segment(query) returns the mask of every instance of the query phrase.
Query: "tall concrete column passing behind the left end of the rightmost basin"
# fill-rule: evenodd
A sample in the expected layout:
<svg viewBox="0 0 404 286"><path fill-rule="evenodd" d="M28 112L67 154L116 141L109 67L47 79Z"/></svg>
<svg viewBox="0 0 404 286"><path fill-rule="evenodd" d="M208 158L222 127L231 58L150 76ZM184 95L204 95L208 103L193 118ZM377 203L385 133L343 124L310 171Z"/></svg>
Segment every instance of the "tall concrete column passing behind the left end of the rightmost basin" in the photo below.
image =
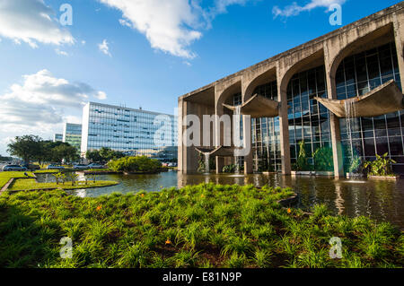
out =
<svg viewBox="0 0 404 286"><path fill-rule="evenodd" d="M331 72L332 62L329 60L329 48L327 42L324 42L324 64L327 80L327 94L329 99L337 100L337 88L335 78ZM335 178L343 178L344 160L342 157L341 133L339 129L339 119L332 112L329 112L329 124L331 133L332 157L334 161L334 176Z"/></svg>

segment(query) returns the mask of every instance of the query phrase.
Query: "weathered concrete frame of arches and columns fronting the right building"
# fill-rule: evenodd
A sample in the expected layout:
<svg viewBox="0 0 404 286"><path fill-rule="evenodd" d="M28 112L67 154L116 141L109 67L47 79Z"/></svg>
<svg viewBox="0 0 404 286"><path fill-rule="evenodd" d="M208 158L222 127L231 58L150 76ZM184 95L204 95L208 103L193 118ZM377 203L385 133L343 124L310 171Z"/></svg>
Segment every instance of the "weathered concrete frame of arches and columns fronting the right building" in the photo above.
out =
<svg viewBox="0 0 404 286"><path fill-rule="evenodd" d="M318 39L293 48L285 53L274 56L257 65L229 75L207 85L198 91L190 92L180 97L180 114L224 114L222 104L236 92L242 92L243 102L250 99L252 92L260 84L277 80L278 95L280 97L280 131L281 131L281 155L282 172L289 175L291 172L289 130L287 118L286 89L294 74L311 69L312 67L325 65L327 76L327 88L330 99L337 98L335 74L342 60L361 49L380 46L383 41L394 40L396 42L400 74L404 74L403 48L404 48L404 3L393 5L379 13L375 13L362 20L349 24L338 30L330 32ZM404 76L401 76L404 86ZM215 88L215 108L198 108L200 103L192 104L192 100L200 101L200 94L206 90ZM196 113L195 113L196 112ZM180 120L179 120L180 122ZM244 124L249 122L244 120ZM338 118L330 116L331 143L333 149L334 173L336 177L342 177L343 162L339 133ZM245 130L245 128L244 128ZM183 134L185 126L180 124L179 134ZM216 125L215 131L219 146L223 143L223 130ZM245 137L245 136L244 136ZM180 136L179 136L180 138ZM179 141L179 169L183 172L196 170L196 154L192 147L181 147ZM245 171L252 172L252 153L245 157ZM224 160L219 159L216 163L220 166ZM220 170L220 168L218 168Z"/></svg>

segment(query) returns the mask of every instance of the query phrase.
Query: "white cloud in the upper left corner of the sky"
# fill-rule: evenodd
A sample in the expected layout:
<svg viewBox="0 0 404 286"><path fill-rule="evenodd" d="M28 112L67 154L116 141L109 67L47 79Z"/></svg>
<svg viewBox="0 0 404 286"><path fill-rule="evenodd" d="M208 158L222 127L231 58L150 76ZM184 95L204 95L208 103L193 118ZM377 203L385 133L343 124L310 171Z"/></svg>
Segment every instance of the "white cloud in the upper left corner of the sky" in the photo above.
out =
<svg viewBox="0 0 404 286"><path fill-rule="evenodd" d="M0 36L31 48L37 48L38 42L57 46L75 43L43 0L0 0Z"/></svg>

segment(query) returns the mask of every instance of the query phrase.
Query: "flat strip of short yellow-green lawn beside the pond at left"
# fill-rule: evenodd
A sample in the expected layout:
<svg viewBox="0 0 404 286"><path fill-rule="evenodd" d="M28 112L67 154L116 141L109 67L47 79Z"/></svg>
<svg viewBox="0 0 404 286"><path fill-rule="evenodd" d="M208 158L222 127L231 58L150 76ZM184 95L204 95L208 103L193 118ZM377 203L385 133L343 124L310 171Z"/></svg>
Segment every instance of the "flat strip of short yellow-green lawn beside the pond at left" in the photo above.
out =
<svg viewBox="0 0 404 286"><path fill-rule="evenodd" d="M78 184L77 184L78 183ZM13 182L12 186L9 186L10 191L26 191L26 190L38 190L38 189L48 189L48 188L62 188L62 189L77 189L77 188L90 188L90 187L101 187L101 186L113 186L117 185L114 181L88 181L87 185L84 182L77 182L75 186L72 186L71 182L66 182L65 185L59 183L37 183L35 179L31 178L20 178Z"/></svg>

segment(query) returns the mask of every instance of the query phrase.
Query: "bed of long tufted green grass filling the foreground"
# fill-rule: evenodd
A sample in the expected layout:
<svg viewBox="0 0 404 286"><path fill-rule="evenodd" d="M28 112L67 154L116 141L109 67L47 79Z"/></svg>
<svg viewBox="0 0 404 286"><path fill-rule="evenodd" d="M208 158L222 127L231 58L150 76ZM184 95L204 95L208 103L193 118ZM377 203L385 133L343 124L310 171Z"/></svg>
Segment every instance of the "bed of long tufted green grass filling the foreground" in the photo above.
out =
<svg viewBox="0 0 404 286"><path fill-rule="evenodd" d="M403 232L277 203L290 189L214 184L97 198L0 196L0 267L402 267ZM73 240L62 259L61 238ZM342 240L342 259L329 239Z"/></svg>

